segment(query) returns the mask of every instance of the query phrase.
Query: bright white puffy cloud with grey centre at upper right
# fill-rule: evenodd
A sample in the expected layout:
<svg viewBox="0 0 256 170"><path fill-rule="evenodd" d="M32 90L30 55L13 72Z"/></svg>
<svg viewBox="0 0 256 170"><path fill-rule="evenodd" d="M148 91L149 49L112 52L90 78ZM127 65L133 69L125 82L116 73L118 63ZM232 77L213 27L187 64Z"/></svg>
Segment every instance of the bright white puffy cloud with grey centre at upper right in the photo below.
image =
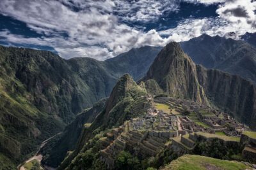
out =
<svg viewBox="0 0 256 170"><path fill-rule="evenodd" d="M189 1L189 0L188 0ZM193 0L191 0L192 2ZM204 3L204 1L196 1ZM208 1L208 3L217 1ZM218 18L188 18L173 28L159 32L174 41L187 41L201 34L239 39L246 32L256 31L256 2L251 0L228 0L218 6Z"/></svg>

